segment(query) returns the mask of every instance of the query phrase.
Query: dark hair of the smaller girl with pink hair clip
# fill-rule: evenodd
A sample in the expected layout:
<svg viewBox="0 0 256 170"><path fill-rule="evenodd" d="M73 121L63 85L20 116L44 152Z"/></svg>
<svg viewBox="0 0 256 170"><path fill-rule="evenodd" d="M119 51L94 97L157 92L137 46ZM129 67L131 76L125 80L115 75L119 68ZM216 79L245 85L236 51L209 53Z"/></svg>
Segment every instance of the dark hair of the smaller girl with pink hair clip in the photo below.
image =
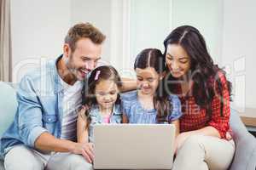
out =
<svg viewBox="0 0 256 170"><path fill-rule="evenodd" d="M119 73L113 68L113 66L103 65L91 71L90 77L85 78L82 89L82 105L86 105L88 108L82 116L85 116L87 119L87 127L90 124L90 109L93 105L97 104L95 95L96 85L102 80L112 80L114 83L116 83L119 89L122 87ZM115 104L120 104L119 94Z"/></svg>

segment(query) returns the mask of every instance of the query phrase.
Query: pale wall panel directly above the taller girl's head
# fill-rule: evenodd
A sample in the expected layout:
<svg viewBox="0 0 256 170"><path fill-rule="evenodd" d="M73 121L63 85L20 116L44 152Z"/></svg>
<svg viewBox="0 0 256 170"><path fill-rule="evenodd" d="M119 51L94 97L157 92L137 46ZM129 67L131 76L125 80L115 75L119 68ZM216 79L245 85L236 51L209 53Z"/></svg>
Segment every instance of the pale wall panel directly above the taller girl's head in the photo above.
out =
<svg viewBox="0 0 256 170"><path fill-rule="evenodd" d="M131 0L131 64L144 48L164 52L164 39L172 29L172 0Z"/></svg>

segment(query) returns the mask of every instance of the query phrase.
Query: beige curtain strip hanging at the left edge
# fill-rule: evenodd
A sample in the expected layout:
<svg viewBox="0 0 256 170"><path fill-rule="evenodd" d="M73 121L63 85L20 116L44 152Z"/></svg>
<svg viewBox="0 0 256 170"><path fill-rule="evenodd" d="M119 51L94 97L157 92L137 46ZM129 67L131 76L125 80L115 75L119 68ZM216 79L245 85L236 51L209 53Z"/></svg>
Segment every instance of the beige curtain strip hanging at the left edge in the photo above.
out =
<svg viewBox="0 0 256 170"><path fill-rule="evenodd" d="M0 0L0 81L11 82L10 0Z"/></svg>

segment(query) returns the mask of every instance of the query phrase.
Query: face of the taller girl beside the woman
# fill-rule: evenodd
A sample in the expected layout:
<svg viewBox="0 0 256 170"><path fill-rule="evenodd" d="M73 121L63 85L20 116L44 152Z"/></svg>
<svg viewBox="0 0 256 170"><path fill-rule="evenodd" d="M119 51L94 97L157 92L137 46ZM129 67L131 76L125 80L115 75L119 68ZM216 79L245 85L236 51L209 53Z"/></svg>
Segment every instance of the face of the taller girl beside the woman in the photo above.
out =
<svg viewBox="0 0 256 170"><path fill-rule="evenodd" d="M153 95L158 88L160 75L153 67L146 69L136 68L137 88L142 94Z"/></svg>

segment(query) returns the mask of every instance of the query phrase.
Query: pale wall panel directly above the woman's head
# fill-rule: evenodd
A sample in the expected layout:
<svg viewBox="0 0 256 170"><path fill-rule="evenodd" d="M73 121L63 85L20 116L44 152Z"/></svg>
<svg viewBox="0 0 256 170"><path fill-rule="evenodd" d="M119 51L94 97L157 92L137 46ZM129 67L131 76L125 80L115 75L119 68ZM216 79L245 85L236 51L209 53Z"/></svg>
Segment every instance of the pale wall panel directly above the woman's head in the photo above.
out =
<svg viewBox="0 0 256 170"><path fill-rule="evenodd" d="M220 64L223 31L223 0L173 0L172 28L195 26L205 37L214 62Z"/></svg>

